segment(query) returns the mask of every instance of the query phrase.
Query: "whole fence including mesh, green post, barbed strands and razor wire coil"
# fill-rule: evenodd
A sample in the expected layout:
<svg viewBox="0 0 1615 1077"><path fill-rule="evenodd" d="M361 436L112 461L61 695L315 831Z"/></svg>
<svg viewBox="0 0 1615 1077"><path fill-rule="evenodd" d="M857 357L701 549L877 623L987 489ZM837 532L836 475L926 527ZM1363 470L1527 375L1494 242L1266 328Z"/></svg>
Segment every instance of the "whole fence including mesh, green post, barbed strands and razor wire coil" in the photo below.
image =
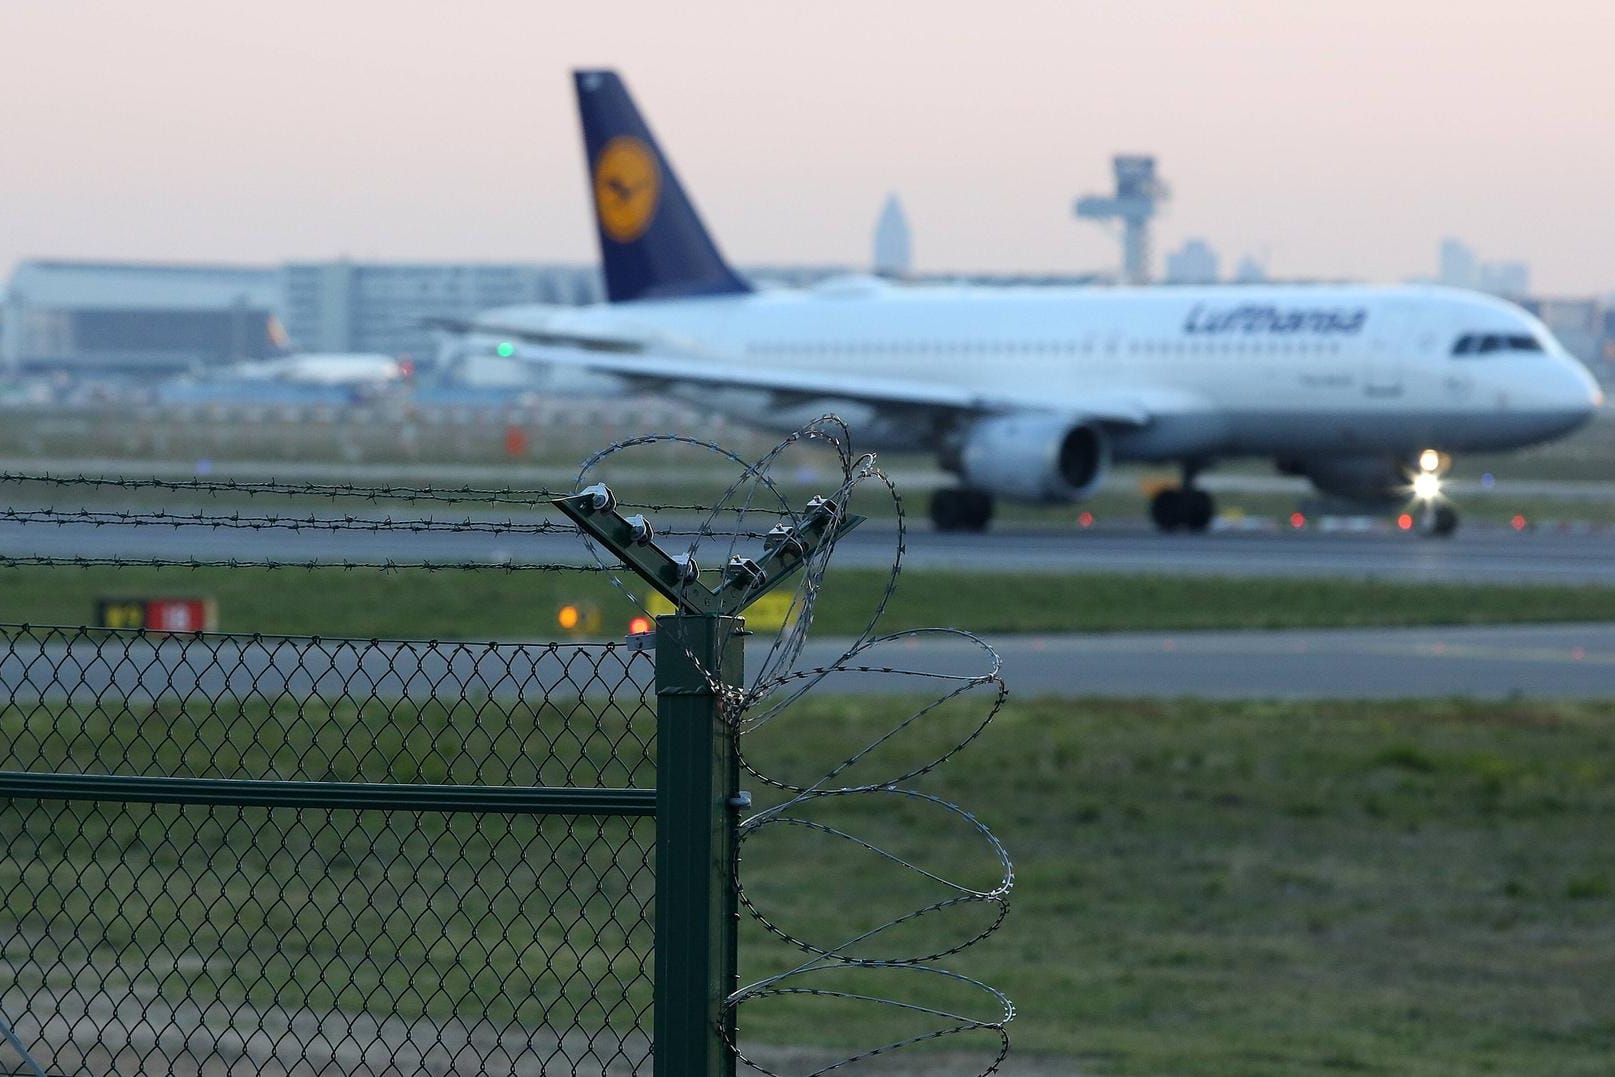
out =
<svg viewBox="0 0 1615 1077"><path fill-rule="evenodd" d="M0 1077L724 1077L849 1038L812 1072L900 1072L904 1054L921 1069L903 1072L935 1072L938 1050L996 1071L1013 1004L938 962L998 927L1013 867L971 812L909 783L985 730L1003 681L969 633L879 630L901 499L849 444L828 417L756 462L635 438L567 496L0 475L0 568L23 576L588 573L644 623L652 594L678 610L633 638L651 649L194 631L205 599L174 599L203 612L170 635L126 628L176 628L124 618L136 599L105 599L103 628L0 625ZM680 452L733 480L711 499L664 489ZM596 468L654 489L619 497ZM840 478L793 499L775 471ZM891 568L864 630L809 662L861 483L895 513ZM738 615L782 585L783 625L748 646ZM916 668L908 644L938 633L967 657ZM914 691L879 728L843 741L795 710L869 677ZM801 751L743 748L764 730ZM869 827L893 804L938 815L935 857ZM837 848L798 856L801 835ZM743 840L764 872L796 859L814 893L848 870L869 890L867 854L880 899L803 930L743 870ZM748 983L743 916L762 928ZM804 1001L864 1016L830 1029L804 1008L743 1043L751 1017Z"/></svg>

